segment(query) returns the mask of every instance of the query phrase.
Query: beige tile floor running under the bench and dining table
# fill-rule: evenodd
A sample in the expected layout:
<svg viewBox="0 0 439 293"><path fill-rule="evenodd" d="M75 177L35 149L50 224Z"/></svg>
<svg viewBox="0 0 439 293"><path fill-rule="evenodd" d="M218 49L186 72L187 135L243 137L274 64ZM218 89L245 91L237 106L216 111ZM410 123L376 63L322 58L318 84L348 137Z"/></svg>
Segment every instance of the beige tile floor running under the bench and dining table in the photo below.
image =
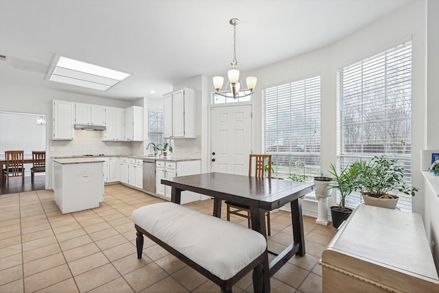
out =
<svg viewBox="0 0 439 293"><path fill-rule="evenodd" d="M162 201L109 185L99 208L62 215L49 190L1 195L0 292L219 292L217 285L146 237L143 258L137 259L131 213ZM187 206L212 213L213 200ZM232 220L246 226L244 218ZM272 292L322 291L318 260L335 231L315 220L304 217L307 255L293 257L274 274ZM270 250L282 250L291 239L290 214L272 213ZM233 292L252 289L248 274Z"/></svg>

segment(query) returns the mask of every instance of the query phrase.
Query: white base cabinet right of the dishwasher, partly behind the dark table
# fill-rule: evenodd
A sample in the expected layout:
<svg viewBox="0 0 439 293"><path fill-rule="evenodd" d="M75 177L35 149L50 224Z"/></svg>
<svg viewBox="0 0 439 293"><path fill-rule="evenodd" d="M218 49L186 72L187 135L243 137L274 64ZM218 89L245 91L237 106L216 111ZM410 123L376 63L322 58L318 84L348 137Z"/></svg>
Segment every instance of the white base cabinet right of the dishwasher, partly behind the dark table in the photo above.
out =
<svg viewBox="0 0 439 293"><path fill-rule="evenodd" d="M171 200L171 187L161 184L163 178L172 178L176 176L186 176L193 174L200 174L201 163L200 160L193 161L156 161L156 194ZM191 191L182 191L181 203L193 202L200 200L200 194L195 194Z"/></svg>

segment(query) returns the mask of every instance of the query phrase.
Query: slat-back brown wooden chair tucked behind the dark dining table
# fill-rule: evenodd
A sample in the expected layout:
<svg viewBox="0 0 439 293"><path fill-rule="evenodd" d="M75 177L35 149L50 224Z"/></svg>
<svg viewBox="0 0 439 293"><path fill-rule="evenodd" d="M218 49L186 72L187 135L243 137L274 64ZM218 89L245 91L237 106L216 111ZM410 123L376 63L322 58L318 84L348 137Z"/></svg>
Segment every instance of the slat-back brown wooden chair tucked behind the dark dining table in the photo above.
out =
<svg viewBox="0 0 439 293"><path fill-rule="evenodd" d="M268 178L272 178L272 155L271 154L250 154L250 161L248 163L248 176L252 176L252 161L253 158L256 160L254 165L254 176L263 178L265 174L265 159L268 159ZM227 220L230 221L230 214L237 215L242 218L246 218L248 222L248 228L251 228L252 221L250 215L250 207L242 204L236 204L235 202L226 201L227 205ZM270 211L265 213L267 215L267 234L271 236L271 225L270 225Z"/></svg>

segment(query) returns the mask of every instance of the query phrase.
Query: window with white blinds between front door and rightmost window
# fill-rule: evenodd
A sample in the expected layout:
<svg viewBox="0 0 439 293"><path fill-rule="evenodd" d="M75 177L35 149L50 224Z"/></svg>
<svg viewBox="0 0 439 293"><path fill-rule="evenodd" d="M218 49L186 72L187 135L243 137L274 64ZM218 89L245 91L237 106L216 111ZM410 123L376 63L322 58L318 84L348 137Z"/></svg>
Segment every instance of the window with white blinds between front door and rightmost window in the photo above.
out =
<svg viewBox="0 0 439 293"><path fill-rule="evenodd" d="M320 175L320 76L262 91L263 152L274 177Z"/></svg>

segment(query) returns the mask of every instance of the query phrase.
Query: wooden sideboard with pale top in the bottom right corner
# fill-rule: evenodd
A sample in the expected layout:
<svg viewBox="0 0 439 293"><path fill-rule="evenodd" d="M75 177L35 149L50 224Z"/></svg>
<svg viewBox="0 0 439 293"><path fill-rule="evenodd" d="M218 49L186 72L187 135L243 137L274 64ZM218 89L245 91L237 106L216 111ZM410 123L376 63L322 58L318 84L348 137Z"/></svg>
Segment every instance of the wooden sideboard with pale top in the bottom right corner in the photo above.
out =
<svg viewBox="0 0 439 293"><path fill-rule="evenodd" d="M421 216L361 205L320 259L323 292L439 292Z"/></svg>

